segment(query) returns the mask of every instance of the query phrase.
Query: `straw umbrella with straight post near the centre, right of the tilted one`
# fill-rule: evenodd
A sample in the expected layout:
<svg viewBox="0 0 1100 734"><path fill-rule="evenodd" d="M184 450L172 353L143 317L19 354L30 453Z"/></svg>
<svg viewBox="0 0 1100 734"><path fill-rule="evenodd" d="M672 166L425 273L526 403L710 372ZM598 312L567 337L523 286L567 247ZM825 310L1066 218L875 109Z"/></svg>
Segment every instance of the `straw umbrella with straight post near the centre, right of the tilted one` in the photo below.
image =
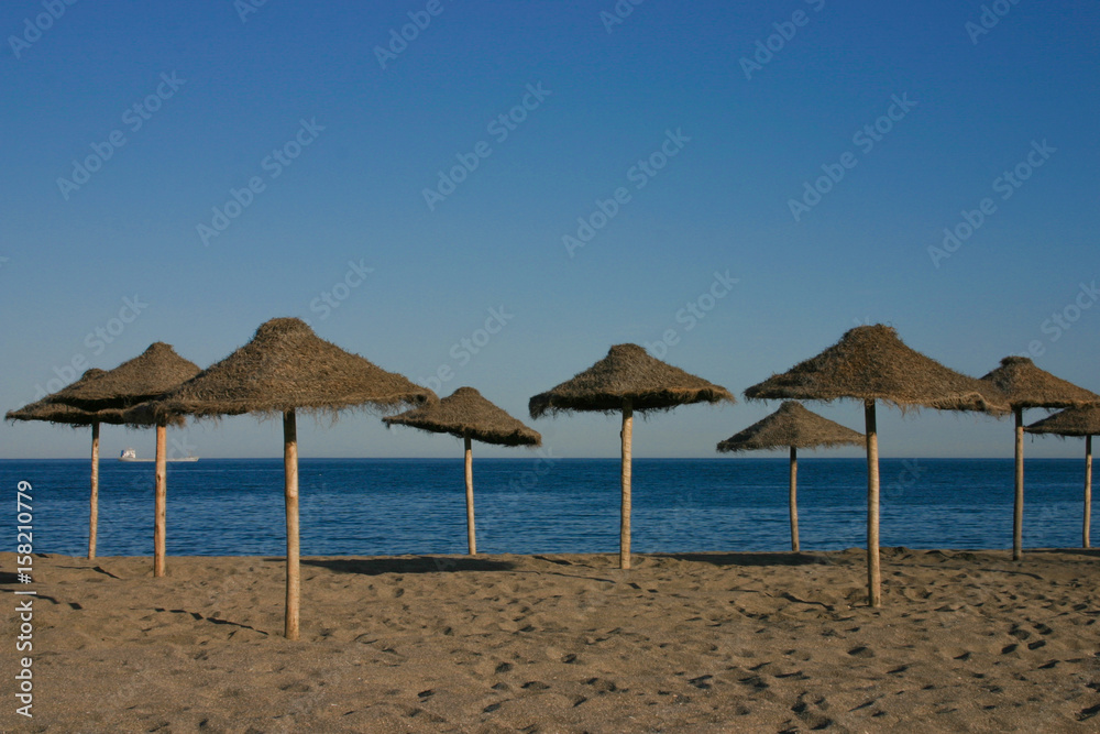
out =
<svg viewBox="0 0 1100 734"><path fill-rule="evenodd" d="M616 344L607 357L530 399L532 418L547 413L595 410L623 414L619 568L630 568L630 441L634 412L669 410L691 403L736 402L728 390L646 353L637 344Z"/></svg>

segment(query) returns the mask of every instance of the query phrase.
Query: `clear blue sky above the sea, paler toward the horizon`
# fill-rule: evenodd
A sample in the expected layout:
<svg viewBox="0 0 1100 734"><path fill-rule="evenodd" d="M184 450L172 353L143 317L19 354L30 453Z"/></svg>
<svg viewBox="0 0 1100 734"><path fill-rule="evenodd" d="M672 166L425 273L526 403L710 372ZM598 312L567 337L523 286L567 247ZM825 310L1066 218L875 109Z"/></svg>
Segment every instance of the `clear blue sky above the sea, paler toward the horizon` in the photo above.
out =
<svg viewBox="0 0 1100 734"><path fill-rule="evenodd" d="M437 392L477 387L556 457L616 456L617 421L527 399L670 329L667 361L738 395L866 321L974 375L1031 349L1100 390L1100 6L982 4L4 2L0 404L157 340L206 366L275 316L417 381L449 365ZM945 228L968 237L930 251ZM657 415L636 454L715 456L776 407ZM1008 421L880 416L884 456L1011 456ZM460 446L299 423L306 457ZM248 416L186 440L282 449ZM105 428L130 445L152 454ZM87 449L0 427L3 458Z"/></svg>

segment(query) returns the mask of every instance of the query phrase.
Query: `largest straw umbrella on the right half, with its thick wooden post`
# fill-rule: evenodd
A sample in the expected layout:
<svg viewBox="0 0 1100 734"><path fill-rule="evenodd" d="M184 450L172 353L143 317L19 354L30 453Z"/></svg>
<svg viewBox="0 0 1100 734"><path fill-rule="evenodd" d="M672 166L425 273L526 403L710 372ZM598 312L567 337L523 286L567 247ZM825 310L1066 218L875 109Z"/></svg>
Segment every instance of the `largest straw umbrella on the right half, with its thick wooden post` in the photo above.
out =
<svg viewBox="0 0 1100 734"><path fill-rule="evenodd" d="M887 326L848 330L821 354L745 391L749 399L862 401L867 441L867 595L882 605L879 569L879 440L875 404L901 409L1004 412L996 388L916 352Z"/></svg>

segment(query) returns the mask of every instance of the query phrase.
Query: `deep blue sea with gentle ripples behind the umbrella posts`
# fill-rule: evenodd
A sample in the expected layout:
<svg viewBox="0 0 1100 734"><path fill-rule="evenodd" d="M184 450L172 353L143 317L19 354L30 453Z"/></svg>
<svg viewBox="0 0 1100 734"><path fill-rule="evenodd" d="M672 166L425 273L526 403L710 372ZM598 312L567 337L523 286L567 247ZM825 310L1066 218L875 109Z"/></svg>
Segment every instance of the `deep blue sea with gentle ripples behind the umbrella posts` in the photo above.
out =
<svg viewBox="0 0 1100 734"><path fill-rule="evenodd" d="M618 472L617 459L475 458L477 550L616 551ZM1011 547L1011 459L883 459L880 475L883 546ZM35 551L85 555L88 478L87 460L0 461L4 549L26 481ZM461 459L302 459L299 486L302 555L466 550ZM785 457L639 459L632 487L637 552L790 549ZM1082 487L1084 459L1027 461L1025 547L1080 546ZM800 458L802 549L862 546L866 496L862 459ZM98 555L152 555L153 464L101 461L99 497ZM169 464L167 497L169 555L285 552L282 460Z"/></svg>

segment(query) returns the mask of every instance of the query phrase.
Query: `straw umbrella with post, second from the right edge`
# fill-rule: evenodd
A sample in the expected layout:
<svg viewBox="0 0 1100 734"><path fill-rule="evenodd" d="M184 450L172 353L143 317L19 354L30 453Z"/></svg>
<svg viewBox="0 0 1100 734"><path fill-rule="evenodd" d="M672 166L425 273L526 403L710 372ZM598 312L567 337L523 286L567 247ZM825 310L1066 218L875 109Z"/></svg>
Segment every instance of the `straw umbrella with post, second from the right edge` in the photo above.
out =
<svg viewBox="0 0 1100 734"><path fill-rule="evenodd" d="M1015 417L1015 497L1012 507L1012 560L1023 556L1024 408L1070 408L1100 405L1100 395L1040 370L1026 357L1005 357L982 377L1008 396Z"/></svg>

